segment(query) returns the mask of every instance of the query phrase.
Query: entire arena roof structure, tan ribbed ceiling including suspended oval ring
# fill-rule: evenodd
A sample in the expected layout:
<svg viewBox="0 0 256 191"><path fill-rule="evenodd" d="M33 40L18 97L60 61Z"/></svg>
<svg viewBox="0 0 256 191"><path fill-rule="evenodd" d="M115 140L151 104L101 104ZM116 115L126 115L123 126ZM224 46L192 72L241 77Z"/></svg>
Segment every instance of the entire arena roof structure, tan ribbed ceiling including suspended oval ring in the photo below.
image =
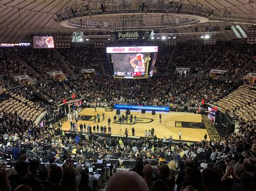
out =
<svg viewBox="0 0 256 191"><path fill-rule="evenodd" d="M237 37L225 31L225 27L240 26L247 31L248 26L255 25L256 2L3 0L0 1L0 18L1 43L21 43L31 38L31 34L71 33L74 29L85 35L131 29L191 34L183 36L181 41L190 40L195 32L223 31L220 40L232 40ZM80 25L93 21L100 23L100 27ZM110 24L113 27L109 27Z"/></svg>

